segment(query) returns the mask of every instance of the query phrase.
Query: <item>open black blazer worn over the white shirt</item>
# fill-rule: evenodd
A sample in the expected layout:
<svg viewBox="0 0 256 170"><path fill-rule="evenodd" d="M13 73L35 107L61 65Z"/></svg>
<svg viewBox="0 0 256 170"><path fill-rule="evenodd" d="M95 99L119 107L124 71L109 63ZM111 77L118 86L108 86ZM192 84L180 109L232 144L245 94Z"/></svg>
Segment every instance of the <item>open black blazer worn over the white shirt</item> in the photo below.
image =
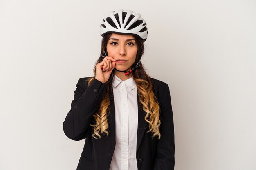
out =
<svg viewBox="0 0 256 170"><path fill-rule="evenodd" d="M79 78L74 91L71 109L63 122L65 135L72 140L85 139L85 145L76 170L109 170L115 149L115 105L113 91L110 93L110 114L108 115L109 135L101 135L101 139L92 137L90 123L92 115L98 109L106 92L107 85L94 79L90 86L86 82L89 77ZM171 96L168 84L151 78L153 92L161 107L160 133L161 139L152 138L144 120L143 111L138 99L138 131L137 131L137 166L138 170L173 170L174 169L174 126Z"/></svg>

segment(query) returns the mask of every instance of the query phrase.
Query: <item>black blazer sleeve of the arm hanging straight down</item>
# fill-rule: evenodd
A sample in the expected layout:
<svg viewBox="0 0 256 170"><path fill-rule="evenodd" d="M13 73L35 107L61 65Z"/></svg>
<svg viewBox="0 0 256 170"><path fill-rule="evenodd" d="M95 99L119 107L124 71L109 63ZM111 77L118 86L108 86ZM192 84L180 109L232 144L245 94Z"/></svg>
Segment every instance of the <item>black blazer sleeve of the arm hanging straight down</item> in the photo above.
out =
<svg viewBox="0 0 256 170"><path fill-rule="evenodd" d="M171 96L168 84L166 84L164 97L159 102L160 111L160 133L161 138L157 142L157 153L155 157L154 170L174 170L174 124Z"/></svg>

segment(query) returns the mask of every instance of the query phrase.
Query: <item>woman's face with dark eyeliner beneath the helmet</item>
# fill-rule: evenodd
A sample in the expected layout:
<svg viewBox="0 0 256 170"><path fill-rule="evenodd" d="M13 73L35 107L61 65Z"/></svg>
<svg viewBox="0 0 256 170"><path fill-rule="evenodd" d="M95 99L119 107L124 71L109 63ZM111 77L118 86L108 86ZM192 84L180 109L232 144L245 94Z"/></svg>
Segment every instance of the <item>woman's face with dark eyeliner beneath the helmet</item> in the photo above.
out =
<svg viewBox="0 0 256 170"><path fill-rule="evenodd" d="M135 62L138 46L132 35L112 34L108 39L108 56L117 60L115 68L120 71L127 70ZM125 60L125 61L118 61Z"/></svg>

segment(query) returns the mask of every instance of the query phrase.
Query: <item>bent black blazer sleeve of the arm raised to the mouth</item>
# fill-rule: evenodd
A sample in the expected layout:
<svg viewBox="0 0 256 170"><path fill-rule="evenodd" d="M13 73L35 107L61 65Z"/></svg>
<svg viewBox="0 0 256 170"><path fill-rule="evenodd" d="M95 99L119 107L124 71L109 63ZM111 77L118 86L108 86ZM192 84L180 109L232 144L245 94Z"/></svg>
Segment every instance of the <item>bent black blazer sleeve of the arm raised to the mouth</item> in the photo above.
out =
<svg viewBox="0 0 256 170"><path fill-rule="evenodd" d="M92 115L97 111L107 89L107 85L97 79L94 79L88 87L82 83L85 81L79 78L71 109L63 122L65 135L76 141L87 137Z"/></svg>

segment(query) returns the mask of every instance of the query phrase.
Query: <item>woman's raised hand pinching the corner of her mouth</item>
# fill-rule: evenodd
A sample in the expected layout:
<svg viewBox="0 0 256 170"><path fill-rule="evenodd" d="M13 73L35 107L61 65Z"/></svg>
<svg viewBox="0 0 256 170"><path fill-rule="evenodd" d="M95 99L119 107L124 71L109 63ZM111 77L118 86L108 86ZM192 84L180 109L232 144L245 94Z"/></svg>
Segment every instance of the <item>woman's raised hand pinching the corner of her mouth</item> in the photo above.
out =
<svg viewBox="0 0 256 170"><path fill-rule="evenodd" d="M115 68L116 60L113 57L106 56L103 61L96 65L95 79L106 83L112 70Z"/></svg>

